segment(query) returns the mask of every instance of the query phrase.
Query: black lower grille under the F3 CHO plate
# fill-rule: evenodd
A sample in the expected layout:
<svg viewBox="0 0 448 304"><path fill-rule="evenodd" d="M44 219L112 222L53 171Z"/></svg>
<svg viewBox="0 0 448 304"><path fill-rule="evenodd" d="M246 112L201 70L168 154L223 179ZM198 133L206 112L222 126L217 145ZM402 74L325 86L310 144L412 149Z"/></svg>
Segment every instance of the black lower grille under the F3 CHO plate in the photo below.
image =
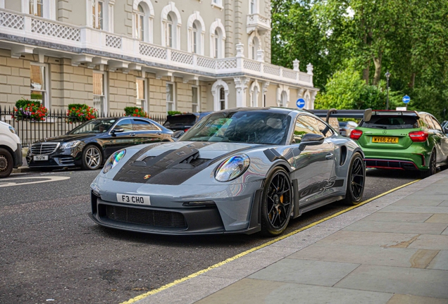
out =
<svg viewBox="0 0 448 304"><path fill-rule="evenodd" d="M154 227L187 228L187 222L182 213L171 211L148 210L140 208L105 205L106 217L118 222L144 224Z"/></svg>

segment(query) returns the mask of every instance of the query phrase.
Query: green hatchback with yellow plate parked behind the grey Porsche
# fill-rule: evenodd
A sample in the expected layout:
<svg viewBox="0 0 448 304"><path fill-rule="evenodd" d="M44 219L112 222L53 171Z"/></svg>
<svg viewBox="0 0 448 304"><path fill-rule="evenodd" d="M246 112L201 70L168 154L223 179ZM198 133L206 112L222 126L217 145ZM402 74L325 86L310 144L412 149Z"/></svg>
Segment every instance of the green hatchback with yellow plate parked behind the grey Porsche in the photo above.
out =
<svg viewBox="0 0 448 304"><path fill-rule="evenodd" d="M373 110L350 138L363 149L366 167L420 170L428 177L448 165L447 133L430 113Z"/></svg>

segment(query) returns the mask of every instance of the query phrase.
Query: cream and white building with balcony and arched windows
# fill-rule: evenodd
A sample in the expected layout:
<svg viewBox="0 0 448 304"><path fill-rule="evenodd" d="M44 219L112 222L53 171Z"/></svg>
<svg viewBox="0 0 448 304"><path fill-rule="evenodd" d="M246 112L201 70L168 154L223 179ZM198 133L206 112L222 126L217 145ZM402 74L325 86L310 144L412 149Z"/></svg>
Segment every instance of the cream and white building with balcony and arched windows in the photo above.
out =
<svg viewBox="0 0 448 304"><path fill-rule="evenodd" d="M269 0L0 0L2 107L313 108L306 70L270 64Z"/></svg>

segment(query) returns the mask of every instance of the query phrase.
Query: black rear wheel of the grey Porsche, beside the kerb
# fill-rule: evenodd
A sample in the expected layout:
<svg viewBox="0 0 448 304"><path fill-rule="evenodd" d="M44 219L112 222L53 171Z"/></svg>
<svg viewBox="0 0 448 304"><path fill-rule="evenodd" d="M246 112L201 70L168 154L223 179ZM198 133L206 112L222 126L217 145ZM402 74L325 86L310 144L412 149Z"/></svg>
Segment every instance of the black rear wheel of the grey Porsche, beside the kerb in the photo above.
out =
<svg viewBox="0 0 448 304"><path fill-rule="evenodd" d="M354 153L349 165L347 175L347 189L343 200L347 205L358 205L363 198L364 187L366 186L366 166L359 153Z"/></svg>

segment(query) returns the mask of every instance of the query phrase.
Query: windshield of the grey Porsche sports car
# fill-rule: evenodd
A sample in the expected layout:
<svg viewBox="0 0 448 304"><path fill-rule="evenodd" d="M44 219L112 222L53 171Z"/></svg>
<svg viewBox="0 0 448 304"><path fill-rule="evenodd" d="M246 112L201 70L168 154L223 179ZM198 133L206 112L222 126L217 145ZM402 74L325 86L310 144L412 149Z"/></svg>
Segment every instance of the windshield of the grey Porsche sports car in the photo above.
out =
<svg viewBox="0 0 448 304"><path fill-rule="evenodd" d="M213 113L194 125L180 141L284 144L291 118L265 110Z"/></svg>

